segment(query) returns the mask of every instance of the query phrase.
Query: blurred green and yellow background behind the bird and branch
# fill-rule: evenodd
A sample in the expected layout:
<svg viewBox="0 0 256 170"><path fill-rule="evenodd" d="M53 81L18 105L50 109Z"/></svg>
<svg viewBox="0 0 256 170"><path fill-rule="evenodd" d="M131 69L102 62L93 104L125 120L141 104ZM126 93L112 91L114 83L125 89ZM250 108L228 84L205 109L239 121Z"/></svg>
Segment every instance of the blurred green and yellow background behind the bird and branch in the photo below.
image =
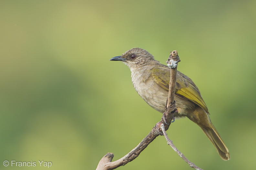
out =
<svg viewBox="0 0 256 170"><path fill-rule="evenodd" d="M119 159L161 118L133 89L130 70L109 61L141 47L198 86L229 148L223 161L196 124L168 132L202 169L253 169L256 153L256 1L0 1L0 169L4 160L95 169ZM191 169L157 137L128 169Z"/></svg>

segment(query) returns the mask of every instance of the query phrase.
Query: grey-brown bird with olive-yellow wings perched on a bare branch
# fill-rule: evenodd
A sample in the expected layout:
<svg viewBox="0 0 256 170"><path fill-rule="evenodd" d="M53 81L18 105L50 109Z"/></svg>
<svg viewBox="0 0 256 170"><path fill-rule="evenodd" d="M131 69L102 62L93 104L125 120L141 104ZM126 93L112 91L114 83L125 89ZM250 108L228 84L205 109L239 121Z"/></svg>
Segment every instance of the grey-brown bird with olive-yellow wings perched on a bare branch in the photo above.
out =
<svg viewBox="0 0 256 170"><path fill-rule="evenodd" d="M122 61L131 71L133 87L145 102L159 111L165 112L168 97L170 69L154 59L142 48L132 48L121 56L110 59ZM195 83L185 74L177 71L174 100L177 111L175 118L187 117L196 123L223 160L229 160L229 150L209 118L208 108Z"/></svg>

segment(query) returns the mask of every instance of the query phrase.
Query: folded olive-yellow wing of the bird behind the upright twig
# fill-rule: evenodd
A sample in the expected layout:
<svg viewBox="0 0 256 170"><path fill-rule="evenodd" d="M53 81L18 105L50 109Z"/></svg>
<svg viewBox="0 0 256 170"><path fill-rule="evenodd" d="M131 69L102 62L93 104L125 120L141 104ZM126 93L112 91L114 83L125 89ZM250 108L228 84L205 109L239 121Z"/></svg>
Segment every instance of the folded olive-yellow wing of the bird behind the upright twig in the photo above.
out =
<svg viewBox="0 0 256 170"><path fill-rule="evenodd" d="M169 90L170 69L168 67L154 67L151 69L153 80L165 90ZM194 102L208 112L207 106L202 99L195 83L183 73L177 71L176 76L176 94Z"/></svg>

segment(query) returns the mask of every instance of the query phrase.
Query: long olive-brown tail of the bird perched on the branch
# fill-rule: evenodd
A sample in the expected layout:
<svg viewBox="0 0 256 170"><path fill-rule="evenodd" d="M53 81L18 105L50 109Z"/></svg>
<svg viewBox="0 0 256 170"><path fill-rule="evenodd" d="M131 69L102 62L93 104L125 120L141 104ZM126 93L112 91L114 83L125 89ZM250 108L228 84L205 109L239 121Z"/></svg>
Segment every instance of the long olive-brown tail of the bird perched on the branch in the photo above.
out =
<svg viewBox="0 0 256 170"><path fill-rule="evenodd" d="M212 128L205 128L202 126L200 126L200 127L203 130L203 132L205 133L205 135L208 137L208 139L211 141L211 143L217 149L219 156L225 161L229 160L230 159L229 149L224 144L223 140L221 139L219 133L217 132L217 130L213 126L213 124L211 123Z"/></svg>

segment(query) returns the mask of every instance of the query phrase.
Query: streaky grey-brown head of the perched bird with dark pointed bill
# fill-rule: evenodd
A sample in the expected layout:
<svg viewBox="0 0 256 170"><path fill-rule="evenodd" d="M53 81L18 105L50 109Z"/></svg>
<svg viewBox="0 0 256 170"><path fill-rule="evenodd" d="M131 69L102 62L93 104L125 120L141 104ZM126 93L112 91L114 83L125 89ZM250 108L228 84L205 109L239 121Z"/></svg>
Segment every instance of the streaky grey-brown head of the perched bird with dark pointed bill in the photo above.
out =
<svg viewBox="0 0 256 170"><path fill-rule="evenodd" d="M120 56L113 57L111 61L123 61L130 69L144 65L159 63L154 56L142 48L132 48Z"/></svg>

